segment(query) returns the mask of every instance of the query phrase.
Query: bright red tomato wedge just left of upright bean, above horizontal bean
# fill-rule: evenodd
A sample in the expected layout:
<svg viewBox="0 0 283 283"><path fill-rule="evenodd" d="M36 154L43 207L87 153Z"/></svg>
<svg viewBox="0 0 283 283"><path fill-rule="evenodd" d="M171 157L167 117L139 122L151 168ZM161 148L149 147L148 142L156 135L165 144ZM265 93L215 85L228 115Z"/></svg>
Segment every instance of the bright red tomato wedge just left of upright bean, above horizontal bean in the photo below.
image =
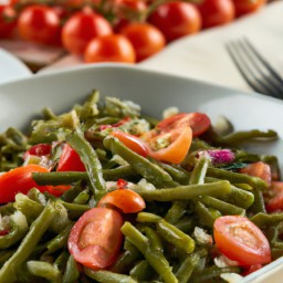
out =
<svg viewBox="0 0 283 283"><path fill-rule="evenodd" d="M63 147L56 171L85 171L80 155L69 144Z"/></svg>

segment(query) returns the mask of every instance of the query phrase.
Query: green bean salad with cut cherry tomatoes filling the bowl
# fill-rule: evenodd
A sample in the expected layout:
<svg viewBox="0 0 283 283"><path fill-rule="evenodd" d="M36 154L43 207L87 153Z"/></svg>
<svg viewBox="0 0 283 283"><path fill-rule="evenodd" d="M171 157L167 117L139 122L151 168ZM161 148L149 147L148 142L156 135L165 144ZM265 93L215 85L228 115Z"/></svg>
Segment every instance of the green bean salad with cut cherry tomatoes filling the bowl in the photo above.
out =
<svg viewBox="0 0 283 283"><path fill-rule="evenodd" d="M0 282L240 282L283 255L275 156L203 113L116 97L0 135Z"/></svg>

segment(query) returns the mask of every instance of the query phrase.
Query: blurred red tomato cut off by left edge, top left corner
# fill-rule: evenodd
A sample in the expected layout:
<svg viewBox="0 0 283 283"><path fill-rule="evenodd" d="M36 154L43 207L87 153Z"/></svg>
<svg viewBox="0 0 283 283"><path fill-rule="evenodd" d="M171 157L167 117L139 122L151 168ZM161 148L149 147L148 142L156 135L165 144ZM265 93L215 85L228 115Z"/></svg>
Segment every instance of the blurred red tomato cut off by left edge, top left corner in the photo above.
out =
<svg viewBox="0 0 283 283"><path fill-rule="evenodd" d="M10 6L0 6L0 39L10 38L17 25L17 13Z"/></svg>

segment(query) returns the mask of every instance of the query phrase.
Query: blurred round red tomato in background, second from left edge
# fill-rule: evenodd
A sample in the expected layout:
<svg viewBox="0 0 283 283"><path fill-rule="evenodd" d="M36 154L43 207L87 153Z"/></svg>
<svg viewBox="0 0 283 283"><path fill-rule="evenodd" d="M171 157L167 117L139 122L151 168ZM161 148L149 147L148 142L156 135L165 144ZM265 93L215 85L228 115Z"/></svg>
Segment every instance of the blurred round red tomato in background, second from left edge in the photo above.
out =
<svg viewBox="0 0 283 283"><path fill-rule="evenodd" d="M59 43L60 31L60 19L48 6L28 6L19 15L18 32L23 40L55 44Z"/></svg>

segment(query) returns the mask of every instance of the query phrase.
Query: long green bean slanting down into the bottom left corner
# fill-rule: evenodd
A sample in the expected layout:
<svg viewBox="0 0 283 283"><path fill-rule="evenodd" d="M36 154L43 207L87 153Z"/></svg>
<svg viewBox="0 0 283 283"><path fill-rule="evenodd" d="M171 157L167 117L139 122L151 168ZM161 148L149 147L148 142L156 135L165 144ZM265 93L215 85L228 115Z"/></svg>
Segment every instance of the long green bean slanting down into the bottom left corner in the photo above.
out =
<svg viewBox="0 0 283 283"><path fill-rule="evenodd" d="M15 271L30 256L36 243L50 227L56 216L56 209L52 201L49 201L38 219L31 224L30 231L22 240L15 253L4 263L0 270L0 282L12 283L15 281Z"/></svg>

